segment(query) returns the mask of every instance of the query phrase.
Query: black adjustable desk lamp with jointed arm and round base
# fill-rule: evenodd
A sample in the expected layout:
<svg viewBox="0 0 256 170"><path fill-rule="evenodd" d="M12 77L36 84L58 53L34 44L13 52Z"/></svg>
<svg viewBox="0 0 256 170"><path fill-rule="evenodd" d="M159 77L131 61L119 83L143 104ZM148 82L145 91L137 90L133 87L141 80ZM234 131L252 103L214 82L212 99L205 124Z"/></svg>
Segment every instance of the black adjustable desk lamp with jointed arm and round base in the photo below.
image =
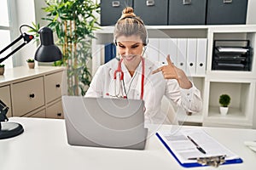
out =
<svg viewBox="0 0 256 170"><path fill-rule="evenodd" d="M6 48L3 48L3 50L0 51L0 54L12 47L16 42L19 42L20 39L23 38L24 42L15 48L10 54L1 58L0 63L2 63L5 59L8 59L12 54L15 54L15 52L34 38L32 35L28 35L21 31L23 26L27 25L20 26L20 37L17 37L14 42L11 42ZM32 28L31 26L27 27ZM38 31L38 34L40 35L41 44L36 51L35 60L40 62L52 62L62 59L61 50L55 46L53 41L53 31L49 27L43 27ZM9 139L23 133L24 131L23 127L19 123L8 122L8 118L6 116L8 110L9 107L0 99L0 139Z"/></svg>

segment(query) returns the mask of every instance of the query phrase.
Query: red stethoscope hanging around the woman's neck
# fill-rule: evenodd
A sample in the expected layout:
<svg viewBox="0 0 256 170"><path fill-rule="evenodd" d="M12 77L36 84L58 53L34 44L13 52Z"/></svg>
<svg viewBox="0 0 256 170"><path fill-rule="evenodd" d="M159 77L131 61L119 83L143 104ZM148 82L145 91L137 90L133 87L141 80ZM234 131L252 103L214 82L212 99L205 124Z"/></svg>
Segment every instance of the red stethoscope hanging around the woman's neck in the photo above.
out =
<svg viewBox="0 0 256 170"><path fill-rule="evenodd" d="M142 81L141 81L141 96L140 96L140 99L143 99L144 79L145 79L145 59L143 59L143 57L141 59L142 59ZM125 90L125 82L124 82L124 72L122 71L122 66L121 66L122 61L123 61L123 59L119 59L118 67L113 72L113 79L115 80L114 81L114 96L118 97L118 98L127 99L127 93L126 93L126 90ZM134 75L134 77L136 77L136 75ZM117 85L117 82L119 82L118 85ZM123 82L123 84L121 82ZM119 86L119 88L117 88L117 86ZM122 88L122 86L123 86L123 88ZM123 94L122 89L124 89L125 95Z"/></svg>

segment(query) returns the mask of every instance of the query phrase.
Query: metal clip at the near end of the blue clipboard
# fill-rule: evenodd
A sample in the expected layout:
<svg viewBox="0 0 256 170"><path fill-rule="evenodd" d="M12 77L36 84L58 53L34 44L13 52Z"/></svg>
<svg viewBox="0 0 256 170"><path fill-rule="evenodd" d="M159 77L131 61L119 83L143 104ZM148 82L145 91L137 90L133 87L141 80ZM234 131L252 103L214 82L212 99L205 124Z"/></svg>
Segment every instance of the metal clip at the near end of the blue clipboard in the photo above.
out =
<svg viewBox="0 0 256 170"><path fill-rule="evenodd" d="M197 163L203 166L212 166L218 167L219 165L224 164L225 162L225 155L224 156L209 156L209 157L197 157L197 158L189 158L189 160L196 160Z"/></svg>

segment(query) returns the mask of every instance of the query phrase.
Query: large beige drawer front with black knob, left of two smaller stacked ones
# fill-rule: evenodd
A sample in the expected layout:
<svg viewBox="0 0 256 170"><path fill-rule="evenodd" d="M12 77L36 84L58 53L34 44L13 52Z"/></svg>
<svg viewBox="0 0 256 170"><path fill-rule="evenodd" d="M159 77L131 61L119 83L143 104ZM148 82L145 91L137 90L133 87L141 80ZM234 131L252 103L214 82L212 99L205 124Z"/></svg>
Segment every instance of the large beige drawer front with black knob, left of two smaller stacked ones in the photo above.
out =
<svg viewBox="0 0 256 170"><path fill-rule="evenodd" d="M26 113L44 105L44 79L34 78L13 84L13 116L23 116Z"/></svg>

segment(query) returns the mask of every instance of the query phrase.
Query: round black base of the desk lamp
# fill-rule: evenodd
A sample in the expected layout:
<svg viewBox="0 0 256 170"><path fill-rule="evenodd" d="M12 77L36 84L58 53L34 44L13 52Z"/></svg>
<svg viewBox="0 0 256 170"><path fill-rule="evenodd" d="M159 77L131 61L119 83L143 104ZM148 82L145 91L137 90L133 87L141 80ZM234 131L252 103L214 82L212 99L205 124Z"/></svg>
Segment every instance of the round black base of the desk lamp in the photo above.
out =
<svg viewBox="0 0 256 170"><path fill-rule="evenodd" d="M1 122L0 139L9 139L24 132L24 128L16 122Z"/></svg>

